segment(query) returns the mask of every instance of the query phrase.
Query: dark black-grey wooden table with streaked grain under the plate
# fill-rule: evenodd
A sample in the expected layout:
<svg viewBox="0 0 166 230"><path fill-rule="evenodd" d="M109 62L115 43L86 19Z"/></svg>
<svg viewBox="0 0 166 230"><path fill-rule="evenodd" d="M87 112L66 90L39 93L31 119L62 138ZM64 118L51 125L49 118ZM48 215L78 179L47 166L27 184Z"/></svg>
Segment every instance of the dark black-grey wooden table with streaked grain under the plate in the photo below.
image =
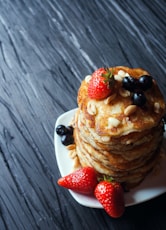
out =
<svg viewBox="0 0 166 230"><path fill-rule="evenodd" d="M166 194L119 219L57 185L59 115L102 66L142 67L166 97L165 0L0 0L0 230L162 230Z"/></svg>

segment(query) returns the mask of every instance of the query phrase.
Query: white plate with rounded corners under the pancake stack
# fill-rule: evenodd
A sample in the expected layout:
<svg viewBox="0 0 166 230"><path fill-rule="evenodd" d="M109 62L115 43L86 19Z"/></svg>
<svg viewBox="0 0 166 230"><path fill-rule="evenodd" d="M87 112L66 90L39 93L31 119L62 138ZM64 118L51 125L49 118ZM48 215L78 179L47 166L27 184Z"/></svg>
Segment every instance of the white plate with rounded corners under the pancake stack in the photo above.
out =
<svg viewBox="0 0 166 230"><path fill-rule="evenodd" d="M62 114L56 121L55 129L59 124L69 125L76 109L70 110ZM60 137L54 131L55 154L58 167L62 176L65 176L72 171L73 161L68 156L68 150L62 145ZM163 151L166 149L166 134L164 136ZM136 188L125 193L125 206L135 205L155 198L166 192L166 157L163 157L160 166L161 170L156 175L149 174L147 178ZM69 190L73 198L81 205L102 208L102 205L95 197L78 194Z"/></svg>

